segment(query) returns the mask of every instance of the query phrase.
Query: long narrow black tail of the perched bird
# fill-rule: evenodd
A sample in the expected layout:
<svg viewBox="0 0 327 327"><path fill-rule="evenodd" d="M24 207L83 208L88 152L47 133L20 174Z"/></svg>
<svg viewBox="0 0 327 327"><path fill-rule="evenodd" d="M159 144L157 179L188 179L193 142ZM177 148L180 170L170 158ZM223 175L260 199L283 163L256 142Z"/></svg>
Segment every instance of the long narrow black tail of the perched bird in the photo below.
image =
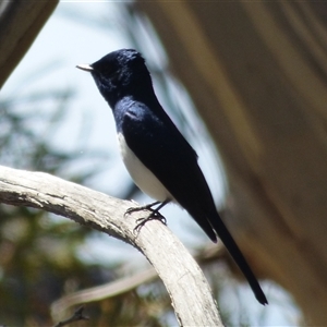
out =
<svg viewBox="0 0 327 327"><path fill-rule="evenodd" d="M216 230L217 234L219 235L220 240L235 261L237 265L243 272L244 277L247 279L250 287L252 288L255 298L257 301L266 305L268 304L268 301L266 299L266 295L264 294L256 277L252 272L246 259L244 258L242 252L240 251L238 244L233 240L232 235L226 228L225 223L222 222L221 218L219 217L218 213L215 215L216 217L214 219L210 219L210 223L213 228Z"/></svg>

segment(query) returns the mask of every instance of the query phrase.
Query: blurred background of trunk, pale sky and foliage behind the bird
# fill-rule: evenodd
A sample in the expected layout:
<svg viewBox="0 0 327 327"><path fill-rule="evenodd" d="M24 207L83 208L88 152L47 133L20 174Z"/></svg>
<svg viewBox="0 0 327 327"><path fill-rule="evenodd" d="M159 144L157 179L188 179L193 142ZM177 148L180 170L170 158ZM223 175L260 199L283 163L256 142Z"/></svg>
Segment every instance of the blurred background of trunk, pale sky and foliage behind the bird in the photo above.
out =
<svg viewBox="0 0 327 327"><path fill-rule="evenodd" d="M0 4L0 27L10 26ZM225 325L327 324L326 13L305 2L59 2L8 80L13 57L0 46L1 165L148 203L120 159L110 108L75 69L135 48L269 301L256 302L185 211L166 207ZM149 264L135 249L36 209L1 204L0 217L0 325L51 326L82 303L90 320L75 326L177 325L154 278L105 299L64 301L142 276Z"/></svg>

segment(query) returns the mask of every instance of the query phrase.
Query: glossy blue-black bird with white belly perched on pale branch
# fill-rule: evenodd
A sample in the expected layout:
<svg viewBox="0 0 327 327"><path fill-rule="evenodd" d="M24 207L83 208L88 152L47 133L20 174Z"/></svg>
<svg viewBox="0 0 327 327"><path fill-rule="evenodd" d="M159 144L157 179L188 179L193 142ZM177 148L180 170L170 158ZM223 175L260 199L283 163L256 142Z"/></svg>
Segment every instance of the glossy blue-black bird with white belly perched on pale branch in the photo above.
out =
<svg viewBox="0 0 327 327"><path fill-rule="evenodd" d="M143 56L134 49L120 49L76 68L92 74L112 110L122 160L135 184L155 199L146 208L157 217L162 217L159 209L168 203L184 208L213 242L220 238L257 301L268 304L216 209L197 154L159 104ZM158 207L153 209L155 205Z"/></svg>

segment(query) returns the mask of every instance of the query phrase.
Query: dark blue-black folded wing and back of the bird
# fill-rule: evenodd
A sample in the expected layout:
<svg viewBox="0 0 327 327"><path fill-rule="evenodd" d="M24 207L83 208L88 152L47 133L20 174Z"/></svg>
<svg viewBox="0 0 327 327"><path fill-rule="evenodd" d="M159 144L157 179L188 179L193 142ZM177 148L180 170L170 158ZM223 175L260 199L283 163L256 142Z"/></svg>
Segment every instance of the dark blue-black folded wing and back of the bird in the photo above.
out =
<svg viewBox="0 0 327 327"><path fill-rule="evenodd" d="M136 157L158 178L208 237L216 241L209 221L210 217L216 218L217 211L197 165L196 153L165 111L158 116L146 105L134 104L125 111L121 129L128 146ZM216 214L210 215L213 211Z"/></svg>

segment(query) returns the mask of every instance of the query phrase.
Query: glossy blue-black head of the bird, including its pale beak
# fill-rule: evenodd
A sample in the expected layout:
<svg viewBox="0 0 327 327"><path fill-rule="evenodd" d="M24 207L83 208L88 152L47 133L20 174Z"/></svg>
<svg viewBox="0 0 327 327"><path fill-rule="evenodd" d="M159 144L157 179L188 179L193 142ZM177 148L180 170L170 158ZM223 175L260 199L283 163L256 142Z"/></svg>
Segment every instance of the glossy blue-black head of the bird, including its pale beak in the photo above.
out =
<svg viewBox="0 0 327 327"><path fill-rule="evenodd" d="M124 96L137 97L149 86L152 89L145 60L133 49L117 50L92 64L78 64L77 68L92 73L111 108Z"/></svg>

